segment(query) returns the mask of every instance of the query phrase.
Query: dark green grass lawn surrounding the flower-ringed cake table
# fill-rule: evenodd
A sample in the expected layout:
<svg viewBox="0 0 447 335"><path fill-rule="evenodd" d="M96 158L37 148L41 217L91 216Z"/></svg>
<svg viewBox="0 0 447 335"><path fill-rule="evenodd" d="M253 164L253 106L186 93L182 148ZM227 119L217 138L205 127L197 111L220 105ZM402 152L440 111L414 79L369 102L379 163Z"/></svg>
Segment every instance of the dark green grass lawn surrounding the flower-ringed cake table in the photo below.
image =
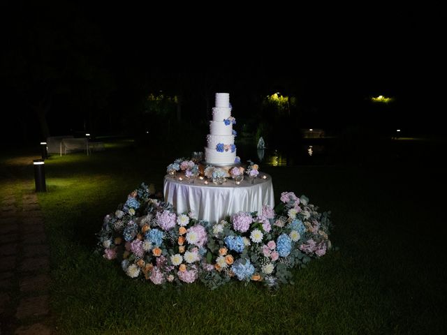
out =
<svg viewBox="0 0 447 335"><path fill-rule="evenodd" d="M443 167L417 158L368 166L261 163L277 201L294 191L332 211L330 239L339 249L296 269L295 284L277 291L236 282L162 289L94 254L105 214L142 181L161 190L166 165L190 152L153 149L110 145L88 157L45 161L47 193L38 199L60 334L446 334L445 197L434 193L444 192ZM21 175L32 179L32 170ZM0 183L13 187L6 178Z"/></svg>

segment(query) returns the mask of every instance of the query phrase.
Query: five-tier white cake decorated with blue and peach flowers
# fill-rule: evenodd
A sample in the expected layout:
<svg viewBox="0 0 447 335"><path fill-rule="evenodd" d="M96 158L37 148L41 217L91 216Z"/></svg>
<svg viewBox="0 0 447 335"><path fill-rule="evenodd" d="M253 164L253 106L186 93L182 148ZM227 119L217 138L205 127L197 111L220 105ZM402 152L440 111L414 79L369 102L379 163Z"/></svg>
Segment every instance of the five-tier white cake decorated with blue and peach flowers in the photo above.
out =
<svg viewBox="0 0 447 335"><path fill-rule="evenodd" d="M236 147L231 116L230 94L217 93L215 107L212 109L210 134L207 135L205 162L218 165L235 163Z"/></svg>

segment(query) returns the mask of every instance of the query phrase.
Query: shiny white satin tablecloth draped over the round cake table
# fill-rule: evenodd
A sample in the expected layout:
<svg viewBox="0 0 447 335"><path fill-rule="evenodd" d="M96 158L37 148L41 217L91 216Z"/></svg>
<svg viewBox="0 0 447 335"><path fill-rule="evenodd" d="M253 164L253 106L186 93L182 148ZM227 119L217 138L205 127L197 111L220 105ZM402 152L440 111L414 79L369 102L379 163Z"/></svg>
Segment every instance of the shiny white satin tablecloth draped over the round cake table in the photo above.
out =
<svg viewBox="0 0 447 335"><path fill-rule="evenodd" d="M267 179L262 179L265 175ZM260 173L255 184L245 177L240 185L227 179L222 185L208 185L196 179L194 184L179 181L177 177L165 176L163 193L166 202L174 205L177 214L193 211L200 220L216 223L238 211L261 211L264 204L274 207L272 177Z"/></svg>

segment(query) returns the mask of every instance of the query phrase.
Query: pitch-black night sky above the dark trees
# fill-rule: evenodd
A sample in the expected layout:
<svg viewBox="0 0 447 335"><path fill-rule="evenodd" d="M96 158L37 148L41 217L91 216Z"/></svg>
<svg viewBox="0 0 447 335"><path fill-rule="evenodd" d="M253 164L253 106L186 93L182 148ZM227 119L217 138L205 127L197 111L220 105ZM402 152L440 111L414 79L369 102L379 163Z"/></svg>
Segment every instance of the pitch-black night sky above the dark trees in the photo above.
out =
<svg viewBox="0 0 447 335"><path fill-rule="evenodd" d="M173 3L94 2L1 4L1 82L12 125L3 135L33 119L29 105L48 82L53 134L84 126L83 101L88 113L118 115L138 108L147 92L173 92L179 82L190 109L205 108L207 83L209 94L229 91L245 110L250 99L242 96L291 91L309 120L318 111L322 126L323 119L341 126L364 117L362 102L382 94L397 98L393 113L402 128L442 128L445 16L437 8L222 3L198 13ZM22 132L32 138L31 124Z"/></svg>

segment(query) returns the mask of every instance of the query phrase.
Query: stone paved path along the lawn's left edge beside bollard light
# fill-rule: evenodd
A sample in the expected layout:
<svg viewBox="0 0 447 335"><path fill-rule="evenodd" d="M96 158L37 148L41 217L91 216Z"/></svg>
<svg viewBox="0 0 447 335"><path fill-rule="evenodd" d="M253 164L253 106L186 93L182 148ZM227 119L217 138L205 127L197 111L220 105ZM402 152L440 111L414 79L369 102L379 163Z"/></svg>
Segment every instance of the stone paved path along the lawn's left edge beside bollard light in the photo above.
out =
<svg viewBox="0 0 447 335"><path fill-rule="evenodd" d="M0 193L0 335L50 335L50 253L36 193L24 190Z"/></svg>

